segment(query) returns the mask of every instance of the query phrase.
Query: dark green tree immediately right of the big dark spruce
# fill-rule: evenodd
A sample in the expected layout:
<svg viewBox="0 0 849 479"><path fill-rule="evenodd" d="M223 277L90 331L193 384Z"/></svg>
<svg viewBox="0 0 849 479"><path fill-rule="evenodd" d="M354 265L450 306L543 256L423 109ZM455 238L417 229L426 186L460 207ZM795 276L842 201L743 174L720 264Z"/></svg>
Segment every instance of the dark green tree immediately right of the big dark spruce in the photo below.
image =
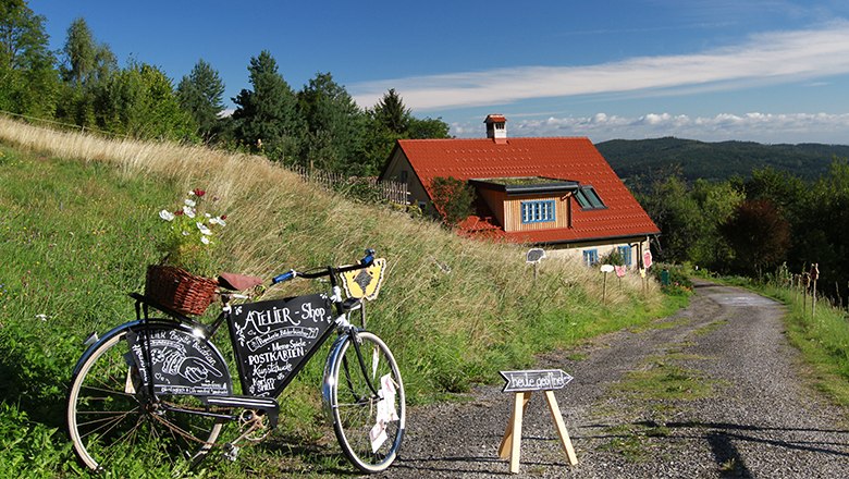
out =
<svg viewBox="0 0 849 479"><path fill-rule="evenodd" d="M310 167L340 173L368 173L360 158L365 115L330 73L318 73L297 95L307 123L304 156Z"/></svg>

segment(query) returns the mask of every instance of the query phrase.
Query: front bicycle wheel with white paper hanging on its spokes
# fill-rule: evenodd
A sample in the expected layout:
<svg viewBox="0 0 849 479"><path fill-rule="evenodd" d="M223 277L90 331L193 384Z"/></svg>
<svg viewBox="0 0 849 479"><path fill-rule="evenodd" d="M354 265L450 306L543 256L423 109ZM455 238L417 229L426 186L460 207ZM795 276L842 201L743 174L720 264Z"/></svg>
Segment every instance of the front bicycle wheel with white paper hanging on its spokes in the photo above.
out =
<svg viewBox="0 0 849 479"><path fill-rule="evenodd" d="M329 378L336 439L358 469L379 472L395 460L404 437L398 365L386 344L369 332L347 336L336 347Z"/></svg>

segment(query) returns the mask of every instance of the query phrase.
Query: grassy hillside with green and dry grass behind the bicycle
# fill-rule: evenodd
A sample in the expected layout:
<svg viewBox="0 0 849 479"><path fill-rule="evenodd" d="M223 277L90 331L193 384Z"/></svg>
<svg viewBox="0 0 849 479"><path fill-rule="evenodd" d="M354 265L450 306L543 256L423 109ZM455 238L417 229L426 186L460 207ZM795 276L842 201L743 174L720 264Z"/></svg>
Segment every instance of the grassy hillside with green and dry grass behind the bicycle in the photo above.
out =
<svg viewBox="0 0 849 479"><path fill-rule="evenodd" d="M347 201L257 157L0 119L0 185L1 477L78 468L63 414L82 340L134 318L125 294L143 288L146 265L158 259L157 212L192 188L221 197L229 217L222 270L271 277L350 262L367 246L385 257L369 326L393 348L413 404L497 381L500 369L530 366L534 353L644 322L668 306L637 278L608 284L603 305L601 274L568 262L543 263L534 283L526 248L462 240L429 221ZM323 288L300 281L268 297ZM284 393L285 419L270 445L234 464L211 462L217 476L347 469L320 412L323 356Z"/></svg>

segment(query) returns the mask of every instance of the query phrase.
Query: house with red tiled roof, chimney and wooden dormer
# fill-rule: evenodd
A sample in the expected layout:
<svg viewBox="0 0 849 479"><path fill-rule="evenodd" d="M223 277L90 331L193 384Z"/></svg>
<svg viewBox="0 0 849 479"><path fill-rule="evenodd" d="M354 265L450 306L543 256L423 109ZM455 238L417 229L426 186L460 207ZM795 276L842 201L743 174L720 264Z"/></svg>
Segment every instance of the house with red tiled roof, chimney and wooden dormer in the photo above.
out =
<svg viewBox="0 0 849 479"><path fill-rule="evenodd" d="M431 201L434 179L465 181L477 193L476 214L460 223L465 234L589 265L618 250L640 267L660 230L589 138L508 138L506 121L487 116L485 138L401 139L381 180L407 183L420 206Z"/></svg>

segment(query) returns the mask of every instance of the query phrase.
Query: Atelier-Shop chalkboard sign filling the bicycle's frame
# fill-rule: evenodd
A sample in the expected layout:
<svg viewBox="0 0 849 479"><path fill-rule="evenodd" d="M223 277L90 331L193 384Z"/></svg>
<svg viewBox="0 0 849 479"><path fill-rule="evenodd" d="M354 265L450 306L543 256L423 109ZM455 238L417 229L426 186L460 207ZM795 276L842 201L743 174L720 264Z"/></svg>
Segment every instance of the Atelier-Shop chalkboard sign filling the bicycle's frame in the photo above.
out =
<svg viewBox="0 0 849 479"><path fill-rule="evenodd" d="M323 294L247 303L230 322L243 394L278 396L332 331Z"/></svg>

